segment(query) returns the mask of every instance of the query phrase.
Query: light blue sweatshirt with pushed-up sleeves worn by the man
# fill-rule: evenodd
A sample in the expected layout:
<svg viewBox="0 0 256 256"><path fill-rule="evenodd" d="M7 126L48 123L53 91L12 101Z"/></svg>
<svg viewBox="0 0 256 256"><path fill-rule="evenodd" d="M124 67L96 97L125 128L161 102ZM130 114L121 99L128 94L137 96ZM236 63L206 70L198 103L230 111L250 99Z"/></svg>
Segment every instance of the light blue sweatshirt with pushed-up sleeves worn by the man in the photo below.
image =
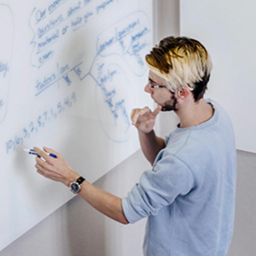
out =
<svg viewBox="0 0 256 256"><path fill-rule="evenodd" d="M227 256L235 210L233 127L215 102L211 119L176 128L151 170L122 198L130 223L148 217L145 256Z"/></svg>

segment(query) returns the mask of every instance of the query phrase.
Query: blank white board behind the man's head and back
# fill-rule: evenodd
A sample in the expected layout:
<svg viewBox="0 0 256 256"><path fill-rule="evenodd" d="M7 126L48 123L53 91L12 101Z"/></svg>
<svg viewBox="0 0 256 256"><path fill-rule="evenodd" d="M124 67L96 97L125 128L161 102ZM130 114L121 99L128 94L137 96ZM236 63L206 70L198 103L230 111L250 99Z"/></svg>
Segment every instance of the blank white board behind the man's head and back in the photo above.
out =
<svg viewBox="0 0 256 256"><path fill-rule="evenodd" d="M207 97L229 114L236 147L256 153L256 2L180 0L180 34L198 39L213 69Z"/></svg>

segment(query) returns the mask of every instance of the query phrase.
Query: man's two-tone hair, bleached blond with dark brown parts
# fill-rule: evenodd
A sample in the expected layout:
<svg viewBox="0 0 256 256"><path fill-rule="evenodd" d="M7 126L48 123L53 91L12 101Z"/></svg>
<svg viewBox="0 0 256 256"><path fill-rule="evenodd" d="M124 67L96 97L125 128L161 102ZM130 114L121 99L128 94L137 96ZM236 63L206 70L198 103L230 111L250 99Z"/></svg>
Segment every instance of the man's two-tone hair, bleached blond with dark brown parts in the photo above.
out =
<svg viewBox="0 0 256 256"><path fill-rule="evenodd" d="M161 40L145 59L150 70L163 78L170 91L188 87L193 92L195 101L203 97L212 61L199 41L170 36Z"/></svg>

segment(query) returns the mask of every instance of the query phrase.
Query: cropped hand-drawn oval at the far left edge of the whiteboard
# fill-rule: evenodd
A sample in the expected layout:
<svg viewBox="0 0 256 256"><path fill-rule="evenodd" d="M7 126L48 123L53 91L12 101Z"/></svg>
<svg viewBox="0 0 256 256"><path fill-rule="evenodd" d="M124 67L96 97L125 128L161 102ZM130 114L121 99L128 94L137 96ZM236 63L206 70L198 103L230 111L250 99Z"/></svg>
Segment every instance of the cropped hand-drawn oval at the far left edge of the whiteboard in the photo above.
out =
<svg viewBox="0 0 256 256"><path fill-rule="evenodd" d="M6 26L8 24L8 27ZM14 22L12 10L0 4L0 123L6 116L10 87Z"/></svg>

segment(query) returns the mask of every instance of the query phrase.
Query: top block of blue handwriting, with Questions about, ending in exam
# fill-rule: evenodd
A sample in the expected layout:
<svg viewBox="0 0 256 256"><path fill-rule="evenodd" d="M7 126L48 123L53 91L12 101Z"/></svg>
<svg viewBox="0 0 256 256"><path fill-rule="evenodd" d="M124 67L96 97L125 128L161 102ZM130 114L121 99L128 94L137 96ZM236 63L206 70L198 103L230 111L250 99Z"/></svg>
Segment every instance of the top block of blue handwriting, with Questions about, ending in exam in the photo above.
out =
<svg viewBox="0 0 256 256"><path fill-rule="evenodd" d="M65 35L67 32L75 32L77 29L83 27L86 23L92 20L94 15L92 10L88 10L90 8L89 3L92 3L91 0L79 0L79 1L70 1L70 0L55 0L52 1L51 4L46 6L46 8L37 9L36 7L33 9L30 19L29 25L33 31L33 39L30 42L32 44L32 55L30 58L30 63L33 67L40 68L42 65L49 61L53 57L53 53L57 52L55 49L55 44L61 40L58 40L62 35ZM56 17L51 15L52 12L55 11L59 6L63 3L66 3L65 6L61 9L61 13L58 13ZM103 10L107 9L107 6L111 6L111 3L114 3L114 0L104 1L102 3L98 3L95 6L91 6L91 8L95 8L96 15L101 14ZM80 11L86 7L86 11L81 13ZM76 13L79 13L76 15ZM76 16L73 20L69 20L71 16ZM47 22L44 25L41 25L40 22L42 19L47 18ZM36 23L33 23L34 22ZM39 23L40 22L40 23ZM67 22L70 22L69 24ZM61 27L61 24L63 26ZM71 30L68 30L68 27L72 27ZM53 32L52 30L55 29ZM107 47L106 45L105 47ZM45 51L48 47L48 52L44 52L43 55L34 58L33 55L38 55L40 52ZM54 47L54 48L53 48Z"/></svg>

